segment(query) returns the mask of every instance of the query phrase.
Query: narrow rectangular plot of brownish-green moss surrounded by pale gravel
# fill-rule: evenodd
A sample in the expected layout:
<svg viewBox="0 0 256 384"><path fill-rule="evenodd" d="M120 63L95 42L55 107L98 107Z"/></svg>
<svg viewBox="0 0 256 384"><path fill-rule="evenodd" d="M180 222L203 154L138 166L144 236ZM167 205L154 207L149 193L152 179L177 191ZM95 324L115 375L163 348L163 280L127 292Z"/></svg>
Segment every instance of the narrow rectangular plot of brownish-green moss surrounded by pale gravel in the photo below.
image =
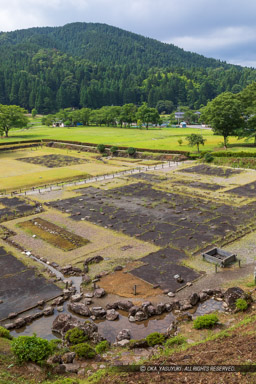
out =
<svg viewBox="0 0 256 384"><path fill-rule="evenodd" d="M40 217L20 223L19 226L25 230L31 231L33 235L38 236L42 240L45 240L49 244L60 248L63 251L72 251L73 249L83 247L89 243L89 240L71 233L64 228L58 227Z"/></svg>

